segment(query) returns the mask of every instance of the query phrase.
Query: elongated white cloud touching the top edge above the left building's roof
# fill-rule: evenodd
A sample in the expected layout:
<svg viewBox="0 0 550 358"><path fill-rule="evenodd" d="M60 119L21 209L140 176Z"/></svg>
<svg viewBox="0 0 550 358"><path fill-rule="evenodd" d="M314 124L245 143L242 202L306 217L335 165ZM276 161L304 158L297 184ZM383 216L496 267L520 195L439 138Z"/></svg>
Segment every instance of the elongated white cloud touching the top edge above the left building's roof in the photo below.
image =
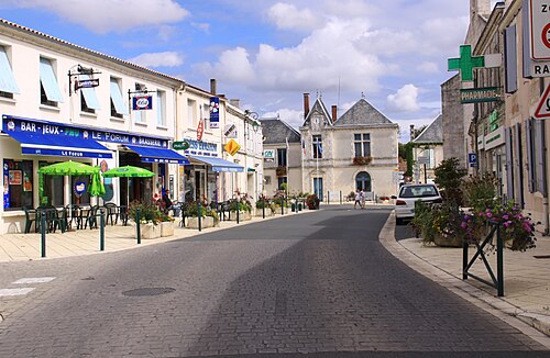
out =
<svg viewBox="0 0 550 358"><path fill-rule="evenodd" d="M174 0L20 0L19 8L44 9L72 23L105 34L178 22L189 15Z"/></svg>

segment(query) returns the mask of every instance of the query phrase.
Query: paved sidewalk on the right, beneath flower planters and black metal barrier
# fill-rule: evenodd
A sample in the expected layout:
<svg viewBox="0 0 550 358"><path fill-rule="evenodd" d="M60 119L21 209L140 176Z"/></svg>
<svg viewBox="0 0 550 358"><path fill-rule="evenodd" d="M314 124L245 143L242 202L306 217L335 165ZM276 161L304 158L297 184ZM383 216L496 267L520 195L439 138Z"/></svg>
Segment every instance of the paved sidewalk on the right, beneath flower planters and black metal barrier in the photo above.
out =
<svg viewBox="0 0 550 358"><path fill-rule="evenodd" d="M394 233L392 213L380 239L394 256L472 303L498 311L501 318L512 325L519 318L535 327L539 331L537 336L550 348L550 237L537 234L537 247L525 253L505 249L504 297L498 298L492 287L473 278L462 280L462 248L426 246L421 238L397 242ZM475 253L470 249L469 254L472 257ZM496 275L496 255L487 255L487 260ZM481 259L470 271L491 281Z"/></svg>

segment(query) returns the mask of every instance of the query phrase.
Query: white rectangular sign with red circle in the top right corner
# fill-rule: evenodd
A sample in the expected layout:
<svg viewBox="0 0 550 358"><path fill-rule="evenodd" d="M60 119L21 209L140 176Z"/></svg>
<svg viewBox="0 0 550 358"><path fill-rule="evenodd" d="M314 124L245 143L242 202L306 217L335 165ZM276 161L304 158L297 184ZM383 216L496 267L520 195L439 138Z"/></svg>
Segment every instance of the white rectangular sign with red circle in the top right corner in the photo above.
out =
<svg viewBox="0 0 550 358"><path fill-rule="evenodd" d="M550 3L530 0L531 58L550 59Z"/></svg>

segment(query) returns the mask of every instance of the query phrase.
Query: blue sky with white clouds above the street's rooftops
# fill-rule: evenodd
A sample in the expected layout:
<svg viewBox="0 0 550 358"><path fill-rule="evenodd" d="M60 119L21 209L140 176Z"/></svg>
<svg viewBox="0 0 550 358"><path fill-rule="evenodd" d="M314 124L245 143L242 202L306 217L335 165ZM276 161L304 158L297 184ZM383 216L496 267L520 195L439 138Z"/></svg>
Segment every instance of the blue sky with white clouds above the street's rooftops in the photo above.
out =
<svg viewBox="0 0 550 358"><path fill-rule="evenodd" d="M492 8L494 7L492 1ZM339 116L361 98L399 124L431 123L455 72L469 0L0 0L0 18L304 121L304 94Z"/></svg>

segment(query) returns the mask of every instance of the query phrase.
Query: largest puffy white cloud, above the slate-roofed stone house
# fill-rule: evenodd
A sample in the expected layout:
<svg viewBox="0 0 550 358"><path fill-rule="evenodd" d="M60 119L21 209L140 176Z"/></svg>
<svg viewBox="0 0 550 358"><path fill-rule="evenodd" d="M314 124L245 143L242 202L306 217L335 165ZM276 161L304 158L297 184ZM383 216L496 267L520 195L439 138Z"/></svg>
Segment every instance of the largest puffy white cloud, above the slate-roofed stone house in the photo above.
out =
<svg viewBox="0 0 550 358"><path fill-rule="evenodd" d="M340 81L342 90L376 91L386 65L354 45L365 31L364 20L334 19L294 47L262 44L255 56L237 47L224 51L217 63L202 63L196 69L255 90L336 90Z"/></svg>

